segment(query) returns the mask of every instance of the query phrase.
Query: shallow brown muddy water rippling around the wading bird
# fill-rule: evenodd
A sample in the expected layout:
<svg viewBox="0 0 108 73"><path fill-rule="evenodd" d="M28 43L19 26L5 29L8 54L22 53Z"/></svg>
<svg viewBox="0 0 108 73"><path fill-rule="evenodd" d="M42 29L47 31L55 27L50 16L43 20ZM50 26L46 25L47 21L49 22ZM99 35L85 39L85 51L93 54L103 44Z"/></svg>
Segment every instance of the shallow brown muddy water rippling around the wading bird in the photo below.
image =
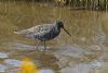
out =
<svg viewBox="0 0 108 73"><path fill-rule="evenodd" d="M107 73L107 12L0 2L0 72L17 73L22 60L29 58L39 73ZM46 52L42 52L42 42L40 51L35 51L37 41L13 33L56 20L62 20L72 36L62 31L46 42Z"/></svg>

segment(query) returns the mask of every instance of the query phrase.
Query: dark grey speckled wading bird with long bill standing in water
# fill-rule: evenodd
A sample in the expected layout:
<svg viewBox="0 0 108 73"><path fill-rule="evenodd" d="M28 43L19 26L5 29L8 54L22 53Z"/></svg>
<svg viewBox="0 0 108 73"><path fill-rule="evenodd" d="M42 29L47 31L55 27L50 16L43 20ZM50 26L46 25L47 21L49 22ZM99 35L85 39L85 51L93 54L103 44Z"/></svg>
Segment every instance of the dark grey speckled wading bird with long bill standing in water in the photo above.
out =
<svg viewBox="0 0 108 73"><path fill-rule="evenodd" d="M63 28L69 36L71 36L64 27L63 22L56 21L53 24L37 25L27 29L19 32L14 32L15 34L24 35L26 37L35 38L35 40L40 40L44 42L44 50L46 49L45 41L51 40L59 35L60 28ZM38 42L37 42L38 49Z"/></svg>

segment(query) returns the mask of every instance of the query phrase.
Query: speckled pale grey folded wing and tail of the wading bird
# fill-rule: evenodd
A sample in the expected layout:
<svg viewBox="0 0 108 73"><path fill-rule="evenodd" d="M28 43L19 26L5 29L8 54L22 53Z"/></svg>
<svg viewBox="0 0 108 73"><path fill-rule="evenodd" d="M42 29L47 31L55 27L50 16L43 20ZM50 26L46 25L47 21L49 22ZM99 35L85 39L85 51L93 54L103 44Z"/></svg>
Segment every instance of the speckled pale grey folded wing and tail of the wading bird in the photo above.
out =
<svg viewBox="0 0 108 73"><path fill-rule="evenodd" d="M35 35L41 34L41 33L46 33L51 31L53 25L51 24L44 24L44 25L37 25L27 29L23 29L19 32L14 32L15 34L24 35L26 37L33 38Z"/></svg>

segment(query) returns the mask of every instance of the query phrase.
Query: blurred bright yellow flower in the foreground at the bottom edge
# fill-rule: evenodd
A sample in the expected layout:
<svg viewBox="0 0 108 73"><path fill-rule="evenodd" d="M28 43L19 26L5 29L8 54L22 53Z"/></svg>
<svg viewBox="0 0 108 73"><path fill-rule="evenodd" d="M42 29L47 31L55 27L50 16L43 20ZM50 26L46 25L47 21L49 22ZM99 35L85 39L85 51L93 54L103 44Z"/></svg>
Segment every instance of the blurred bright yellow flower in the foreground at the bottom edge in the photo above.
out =
<svg viewBox="0 0 108 73"><path fill-rule="evenodd" d="M27 58L23 60L19 70L21 73L38 73L37 66Z"/></svg>

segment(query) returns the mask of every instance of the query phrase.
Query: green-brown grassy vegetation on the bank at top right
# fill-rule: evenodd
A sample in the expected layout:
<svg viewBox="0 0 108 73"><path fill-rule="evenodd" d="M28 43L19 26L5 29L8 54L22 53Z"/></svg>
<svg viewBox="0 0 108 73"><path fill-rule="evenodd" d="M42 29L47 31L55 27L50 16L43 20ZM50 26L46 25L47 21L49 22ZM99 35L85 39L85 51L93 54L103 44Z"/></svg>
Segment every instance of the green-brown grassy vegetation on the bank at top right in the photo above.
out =
<svg viewBox="0 0 108 73"><path fill-rule="evenodd" d="M56 0L59 1L59 0ZM107 10L107 0L60 0L73 9ZM64 4L64 2L62 2Z"/></svg>

